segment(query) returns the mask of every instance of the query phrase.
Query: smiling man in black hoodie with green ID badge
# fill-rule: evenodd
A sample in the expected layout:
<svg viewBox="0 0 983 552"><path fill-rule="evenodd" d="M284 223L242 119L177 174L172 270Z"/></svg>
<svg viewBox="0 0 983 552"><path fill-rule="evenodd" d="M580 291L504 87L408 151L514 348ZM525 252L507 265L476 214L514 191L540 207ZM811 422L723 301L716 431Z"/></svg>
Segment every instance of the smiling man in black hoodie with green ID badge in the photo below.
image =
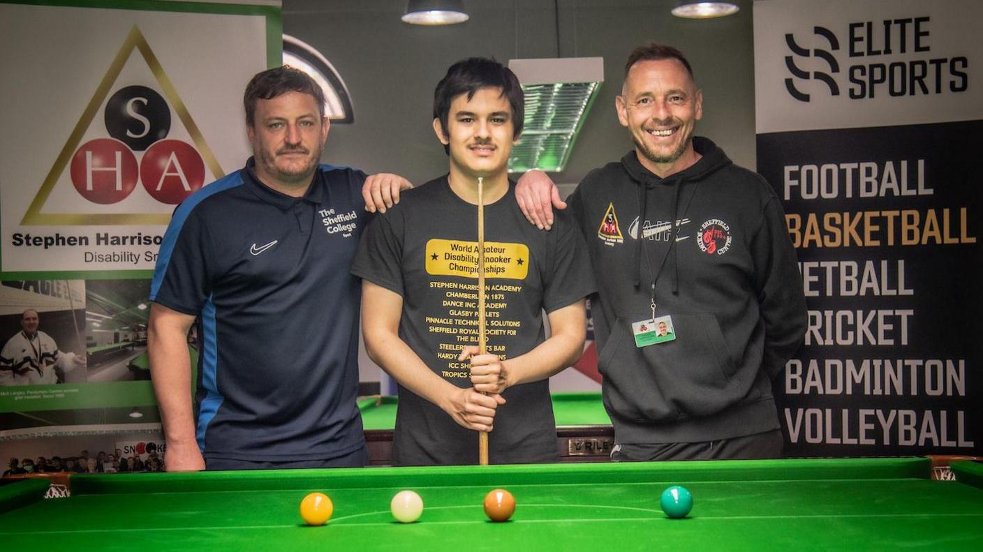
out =
<svg viewBox="0 0 983 552"><path fill-rule="evenodd" d="M798 349L806 305L781 202L713 141L703 96L670 46L636 48L616 100L635 148L585 177L570 206L587 238L598 368L613 460L778 458L772 378ZM542 173L516 195L549 227ZM673 338L657 335L658 321Z"/></svg>

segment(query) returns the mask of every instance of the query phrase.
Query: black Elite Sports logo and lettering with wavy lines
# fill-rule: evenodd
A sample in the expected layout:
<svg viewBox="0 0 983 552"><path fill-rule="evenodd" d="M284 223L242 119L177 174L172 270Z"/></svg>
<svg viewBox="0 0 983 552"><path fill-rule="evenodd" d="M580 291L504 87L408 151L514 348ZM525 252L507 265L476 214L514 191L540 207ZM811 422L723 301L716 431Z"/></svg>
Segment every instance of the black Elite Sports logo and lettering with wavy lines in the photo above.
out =
<svg viewBox="0 0 983 552"><path fill-rule="evenodd" d="M817 89L831 97L844 95L859 100L885 94L964 92L968 88L968 58L932 52L931 17L850 22L842 30L840 36L845 40L832 29L819 26L813 27L808 42L785 33L785 45L791 52L784 56L790 75L784 79L788 95L809 102ZM814 81L825 86L811 85Z"/></svg>

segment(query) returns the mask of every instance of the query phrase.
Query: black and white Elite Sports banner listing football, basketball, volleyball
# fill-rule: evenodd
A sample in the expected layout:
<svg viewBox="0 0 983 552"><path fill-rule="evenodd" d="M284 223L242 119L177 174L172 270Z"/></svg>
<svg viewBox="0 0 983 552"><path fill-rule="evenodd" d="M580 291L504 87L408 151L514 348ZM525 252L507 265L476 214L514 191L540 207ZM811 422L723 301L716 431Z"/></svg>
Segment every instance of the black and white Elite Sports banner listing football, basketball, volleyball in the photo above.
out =
<svg viewBox="0 0 983 552"><path fill-rule="evenodd" d="M758 171L809 305L790 456L983 450L983 33L974 0L754 5Z"/></svg>

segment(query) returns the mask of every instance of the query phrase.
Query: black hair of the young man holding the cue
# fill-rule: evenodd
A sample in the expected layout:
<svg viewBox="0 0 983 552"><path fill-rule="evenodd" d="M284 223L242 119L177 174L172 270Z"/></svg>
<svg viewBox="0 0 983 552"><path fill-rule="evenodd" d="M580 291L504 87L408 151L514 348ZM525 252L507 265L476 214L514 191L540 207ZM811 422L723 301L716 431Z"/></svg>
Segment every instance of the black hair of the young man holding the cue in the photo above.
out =
<svg viewBox="0 0 983 552"><path fill-rule="evenodd" d="M440 121L444 136L447 135L447 117L454 98L466 93L470 100L475 97L479 88L488 86L501 88L502 95L508 98L508 104L512 108L512 138L522 134L526 110L525 95L519 79L511 70L493 59L468 58L450 66L434 89L434 119ZM443 149L450 150L446 145Z"/></svg>

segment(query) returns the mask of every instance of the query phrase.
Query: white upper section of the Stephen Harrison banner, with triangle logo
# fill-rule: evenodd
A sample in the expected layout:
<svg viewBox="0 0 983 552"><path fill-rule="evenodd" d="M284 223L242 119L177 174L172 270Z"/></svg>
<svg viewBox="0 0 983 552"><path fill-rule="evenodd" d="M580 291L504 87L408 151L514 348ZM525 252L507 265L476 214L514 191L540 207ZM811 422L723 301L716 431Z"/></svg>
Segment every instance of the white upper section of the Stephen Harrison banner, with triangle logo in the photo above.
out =
<svg viewBox="0 0 983 552"><path fill-rule="evenodd" d="M0 4L16 83L0 90L16 106L0 118L0 271L151 270L177 203L249 156L240 98L279 59L279 9L59 4Z"/></svg>

